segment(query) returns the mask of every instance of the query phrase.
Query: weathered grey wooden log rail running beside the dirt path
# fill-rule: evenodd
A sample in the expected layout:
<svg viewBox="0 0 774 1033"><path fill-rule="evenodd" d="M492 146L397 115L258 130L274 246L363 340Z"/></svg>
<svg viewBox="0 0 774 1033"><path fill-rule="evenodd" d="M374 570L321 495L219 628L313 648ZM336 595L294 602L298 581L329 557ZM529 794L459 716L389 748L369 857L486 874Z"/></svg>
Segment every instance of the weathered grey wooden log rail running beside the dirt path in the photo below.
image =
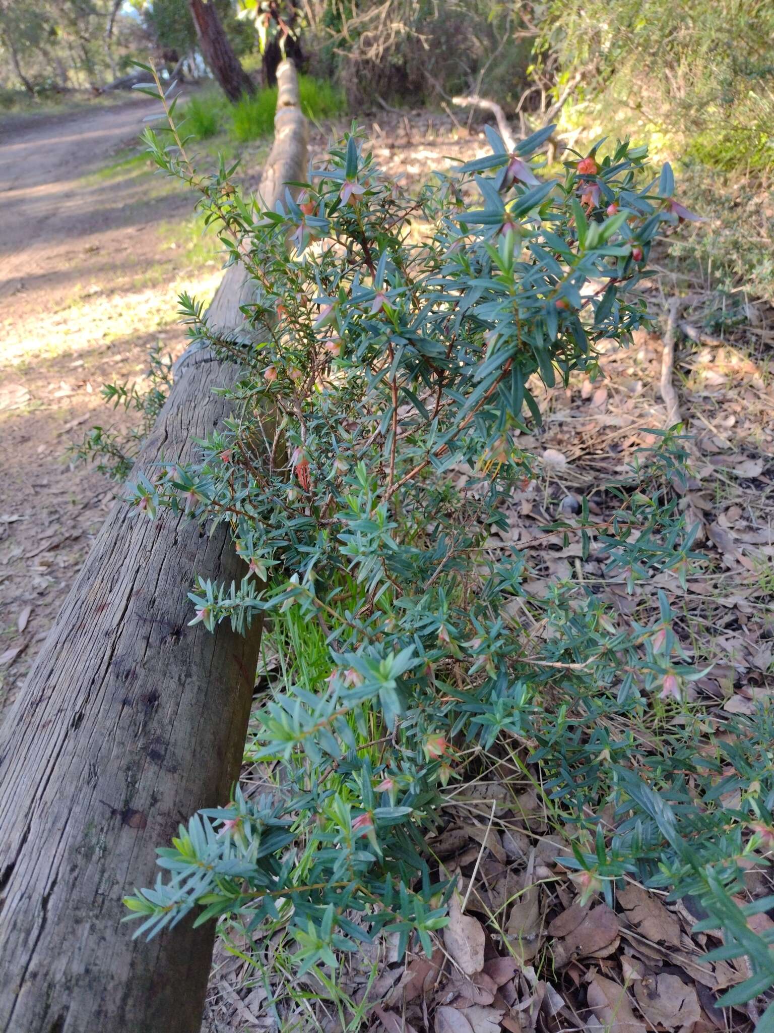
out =
<svg viewBox="0 0 774 1033"><path fill-rule="evenodd" d="M304 174L295 71L280 70L267 204ZM234 327L250 300L231 267L209 309ZM236 368L182 364L137 461L185 462L228 413L213 388ZM0 1030L193 1033L214 929L184 920L150 943L121 924L152 885L155 848L200 807L228 801L247 733L260 628L188 626L192 575L244 573L224 530L118 502L0 732Z"/></svg>

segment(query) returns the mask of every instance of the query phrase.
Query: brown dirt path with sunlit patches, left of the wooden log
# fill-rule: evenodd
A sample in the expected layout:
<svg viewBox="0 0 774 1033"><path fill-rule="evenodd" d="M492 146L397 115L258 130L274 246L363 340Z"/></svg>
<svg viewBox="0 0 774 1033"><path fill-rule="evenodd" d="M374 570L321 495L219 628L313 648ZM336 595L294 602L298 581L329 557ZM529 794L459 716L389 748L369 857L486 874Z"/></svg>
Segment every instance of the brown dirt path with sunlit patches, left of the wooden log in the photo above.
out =
<svg viewBox="0 0 774 1033"><path fill-rule="evenodd" d="M0 125L0 713L111 498L67 446L92 424L128 426L100 387L141 378L157 341L175 351L176 293L220 275L175 242L190 195L126 150L152 109Z"/></svg>

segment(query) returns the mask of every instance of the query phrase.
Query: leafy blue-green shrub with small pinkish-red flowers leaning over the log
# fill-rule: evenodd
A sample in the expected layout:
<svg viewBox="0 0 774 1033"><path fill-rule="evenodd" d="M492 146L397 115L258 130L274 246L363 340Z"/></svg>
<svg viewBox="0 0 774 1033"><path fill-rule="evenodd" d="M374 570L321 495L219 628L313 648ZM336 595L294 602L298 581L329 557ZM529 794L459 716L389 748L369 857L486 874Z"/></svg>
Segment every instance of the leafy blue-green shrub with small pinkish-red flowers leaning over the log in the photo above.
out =
<svg viewBox="0 0 774 1033"><path fill-rule="evenodd" d="M623 632L582 586L529 598L523 555L484 547L531 477L517 434L540 421L530 377L550 387L574 370L593 376L602 339L628 342L646 318L638 288L651 243L679 217L669 166L654 180L646 150L627 142L572 156L540 182L535 156L551 131L511 154L488 130L491 156L414 196L353 130L273 211L241 197L223 167L200 177L173 127L168 148L148 133L158 164L200 190L255 302L223 337L182 299L193 343L240 365L235 414L201 442L200 462L170 457L131 500L151 518L184 508L228 525L245 576L199 580L192 624L244 632L261 613L297 617L323 636L328 662L256 715L250 755L286 765L282 792L247 801L237 788L182 826L159 851L168 879L127 900L137 933L200 905L199 921L283 926L301 970L334 966L382 930L401 950L416 935L429 951L452 891L425 852L445 786L514 742L541 765L575 843L565 864L586 895L612 901L634 872L734 909L736 858L774 836L774 786L747 816L731 820L714 796L700 820L683 776L694 763L709 792L712 771L672 741L654 758L653 737L606 720L663 716L698 677L666 597L654 625ZM619 506L604 528L585 506L572 528L556 526L585 553L595 533L609 572L630 583L652 569L684 575L690 534L669 488L683 458L666 434L628 484L612 486ZM552 634L530 643L517 599ZM754 768L763 729L738 749L736 762ZM663 786L677 817L652 788ZM595 816L611 805L620 823L603 833ZM760 828L745 844L748 818Z"/></svg>

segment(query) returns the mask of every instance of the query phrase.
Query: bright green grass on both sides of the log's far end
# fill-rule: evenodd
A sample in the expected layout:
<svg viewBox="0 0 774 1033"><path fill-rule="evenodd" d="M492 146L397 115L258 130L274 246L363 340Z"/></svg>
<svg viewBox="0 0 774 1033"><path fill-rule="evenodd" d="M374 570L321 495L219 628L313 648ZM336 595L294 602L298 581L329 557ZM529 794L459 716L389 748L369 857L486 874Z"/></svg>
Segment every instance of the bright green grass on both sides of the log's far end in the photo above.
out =
<svg viewBox="0 0 774 1033"><path fill-rule="evenodd" d="M326 80L300 75L301 109L311 122L334 118L345 111L344 93ZM196 139L208 139L221 131L239 144L271 136L275 130L277 87L259 90L229 104L216 89L193 96L185 107L184 129Z"/></svg>

